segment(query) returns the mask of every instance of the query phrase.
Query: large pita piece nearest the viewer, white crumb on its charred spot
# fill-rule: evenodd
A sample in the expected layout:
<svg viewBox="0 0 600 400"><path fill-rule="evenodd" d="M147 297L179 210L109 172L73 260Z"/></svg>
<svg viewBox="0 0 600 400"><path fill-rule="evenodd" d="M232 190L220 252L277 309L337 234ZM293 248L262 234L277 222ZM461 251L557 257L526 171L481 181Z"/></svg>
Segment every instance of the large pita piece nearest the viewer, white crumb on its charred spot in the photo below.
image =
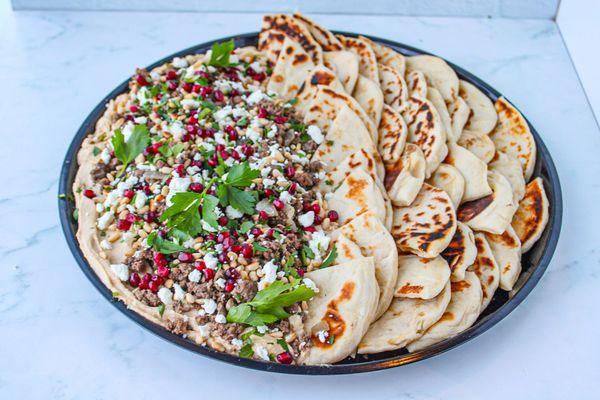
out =
<svg viewBox="0 0 600 400"><path fill-rule="evenodd" d="M308 302L304 322L312 346L299 362L320 365L343 360L356 351L375 316L379 288L373 258L318 269L305 277L319 292ZM333 340L322 342L319 336L333 336Z"/></svg>

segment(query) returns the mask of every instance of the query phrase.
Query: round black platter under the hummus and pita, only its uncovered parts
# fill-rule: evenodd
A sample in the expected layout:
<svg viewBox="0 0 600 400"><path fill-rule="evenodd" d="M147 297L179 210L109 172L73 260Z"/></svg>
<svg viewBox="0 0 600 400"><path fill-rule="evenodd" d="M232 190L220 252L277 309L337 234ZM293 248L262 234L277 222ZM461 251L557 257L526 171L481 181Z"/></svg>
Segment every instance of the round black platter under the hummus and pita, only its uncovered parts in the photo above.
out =
<svg viewBox="0 0 600 400"><path fill-rule="evenodd" d="M346 36L358 36L358 34L356 33L349 32L335 33L341 33ZM414 47L406 46L404 44L393 42L390 40L380 39L372 36L367 37L370 37L371 40L382 43L407 56L416 54L430 54L422 50L416 49ZM223 42L229 39L235 40L236 48L242 46L256 45L258 41L258 33L253 32L242 35L235 35L199 44L188 49L179 51L168 57L165 57L162 60L159 60L154 64L150 65L149 67L147 67L147 69L151 70L152 68L171 60L173 57L181 57L187 54L194 53L205 53L212 47L213 43ZM495 101L496 99L501 97L500 93L498 93L494 88L492 88L476 76L450 62L448 62L448 64L456 71L460 79L464 79L475 85L479 90L485 93L492 101ZM152 333L160 336L161 338L171 343L174 343L195 353L247 368L270 372L304 375L333 375L368 372L397 367L400 365L424 360L426 358L453 349L471 340L472 338L487 331L495 324L497 324L501 319L506 317L525 299L525 297L527 297L527 295L539 282L540 278L546 271L548 264L550 263L552 255L554 254L554 250L556 248L556 244L558 242L558 237L560 234L562 219L562 197L560 183L558 180L558 174L556 173L556 169L554 167L554 163L552 162L552 158L548 153L548 149L546 149L546 146L542 142L537 131L528 121L529 127L531 129L531 132L533 133L533 136L535 137L535 141L537 144L537 162L535 165L533 176L539 176L544 181L544 187L546 189L548 200L550 202L549 221L540 240L537 243L535 243L535 245L529 252L523 255L523 272L515 285L515 289L512 292L510 292L510 294L504 291L497 291L492 299L492 302L487 307L486 311L479 316L475 324L469 329L453 338L444 340L443 342L437 343L433 346L430 346L420 351L416 351L414 353L408 353L405 349L401 349L385 353L372 354L368 356L357 355L355 358L348 358L342 362L329 366L302 366L265 363L245 358L239 358L230 354L225 354L212 350L208 347L197 345L190 340L186 340L183 337L175 335L169 332L168 330L164 329L163 327L148 321L141 315L129 310L124 303L113 299L112 292L106 286L104 286L104 284L100 281L98 276L89 266L88 262L86 261L85 257L83 256L83 253L79 248L79 244L75 237L75 233L77 231L77 221L75 221L72 217L75 207L75 204L72 201L72 186L78 167L76 161L77 152L79 151L79 148L84 138L94 130L96 121L104 112L105 105L107 104L107 102L110 99L115 98L119 94L124 93L128 88L127 85L128 81L121 83L92 110L92 112L88 115L88 117L85 119L85 121L77 131L77 134L75 135L73 141L71 142L71 145L69 146L69 149L65 156L65 160L62 165L59 184L59 193L66 195L59 197L59 214L62 229L67 239L69 248L71 249L71 252L75 257L75 260L79 264L79 267L87 276L87 278L92 282L92 284L96 287L96 289L98 289L98 291L100 291L100 293L108 301L110 301L120 312L127 315L133 321L148 329Z"/></svg>

